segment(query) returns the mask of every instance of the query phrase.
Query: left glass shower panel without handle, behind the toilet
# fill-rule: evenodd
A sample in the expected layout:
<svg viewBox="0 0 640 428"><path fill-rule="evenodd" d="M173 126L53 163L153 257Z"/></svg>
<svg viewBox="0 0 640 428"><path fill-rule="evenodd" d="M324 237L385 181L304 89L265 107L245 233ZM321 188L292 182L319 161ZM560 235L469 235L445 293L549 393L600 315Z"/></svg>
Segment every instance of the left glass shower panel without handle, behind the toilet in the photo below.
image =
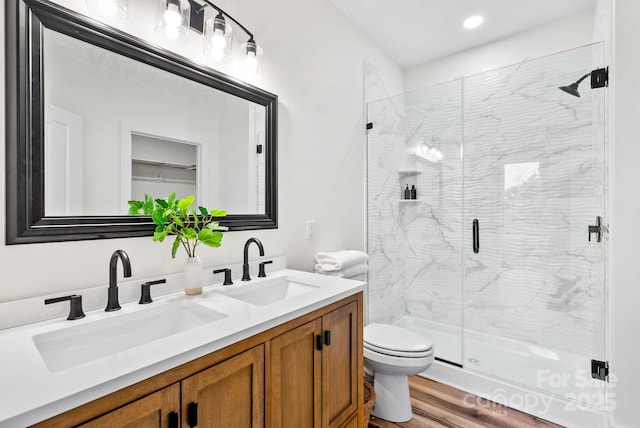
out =
<svg viewBox="0 0 640 428"><path fill-rule="evenodd" d="M438 359L459 365L461 88L456 80L367 105L368 321L424 335ZM411 187L415 199L405 198Z"/></svg>

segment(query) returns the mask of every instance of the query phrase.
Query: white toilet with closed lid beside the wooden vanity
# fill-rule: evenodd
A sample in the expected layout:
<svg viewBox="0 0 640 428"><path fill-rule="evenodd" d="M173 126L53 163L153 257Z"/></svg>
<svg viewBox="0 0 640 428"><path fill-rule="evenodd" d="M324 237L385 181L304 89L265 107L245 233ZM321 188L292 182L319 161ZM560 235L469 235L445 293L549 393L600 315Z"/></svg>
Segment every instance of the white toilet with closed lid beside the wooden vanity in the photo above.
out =
<svg viewBox="0 0 640 428"><path fill-rule="evenodd" d="M395 325L372 323L364 328L364 365L373 374L375 417L406 422L413 417L407 376L433 363L429 339Z"/></svg>

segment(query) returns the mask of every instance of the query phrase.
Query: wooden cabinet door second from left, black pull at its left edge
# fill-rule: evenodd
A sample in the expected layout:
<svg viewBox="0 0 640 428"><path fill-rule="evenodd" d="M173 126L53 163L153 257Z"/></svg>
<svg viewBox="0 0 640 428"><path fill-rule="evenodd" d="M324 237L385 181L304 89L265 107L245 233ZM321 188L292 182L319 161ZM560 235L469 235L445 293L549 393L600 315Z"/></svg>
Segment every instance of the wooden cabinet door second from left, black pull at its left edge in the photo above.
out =
<svg viewBox="0 0 640 428"><path fill-rule="evenodd" d="M193 407L197 415L193 420ZM190 412L191 410L191 412ZM182 381L182 426L264 426L264 346L256 346Z"/></svg>

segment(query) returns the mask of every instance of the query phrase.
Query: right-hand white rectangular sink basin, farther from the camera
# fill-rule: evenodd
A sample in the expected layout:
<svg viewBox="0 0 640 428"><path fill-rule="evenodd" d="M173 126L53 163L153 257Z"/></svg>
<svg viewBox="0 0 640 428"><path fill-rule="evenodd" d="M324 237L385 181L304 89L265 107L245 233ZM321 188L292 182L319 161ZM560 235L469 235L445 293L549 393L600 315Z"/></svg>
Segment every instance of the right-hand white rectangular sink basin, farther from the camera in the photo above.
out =
<svg viewBox="0 0 640 428"><path fill-rule="evenodd" d="M303 284L283 277L239 285L237 288L221 289L216 291L216 293L242 300L252 305L265 306L293 296L308 293L309 291L318 289L318 287L318 285Z"/></svg>

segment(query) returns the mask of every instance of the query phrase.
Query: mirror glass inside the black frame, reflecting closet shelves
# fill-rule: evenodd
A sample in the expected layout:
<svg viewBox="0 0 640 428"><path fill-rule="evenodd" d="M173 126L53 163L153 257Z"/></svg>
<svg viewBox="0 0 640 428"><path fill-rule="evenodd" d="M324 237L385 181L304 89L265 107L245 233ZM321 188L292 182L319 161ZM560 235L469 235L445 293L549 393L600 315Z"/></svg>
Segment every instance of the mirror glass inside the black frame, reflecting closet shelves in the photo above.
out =
<svg viewBox="0 0 640 428"><path fill-rule="evenodd" d="M126 214L172 191L264 213L264 106L56 31L43 41L45 215Z"/></svg>

